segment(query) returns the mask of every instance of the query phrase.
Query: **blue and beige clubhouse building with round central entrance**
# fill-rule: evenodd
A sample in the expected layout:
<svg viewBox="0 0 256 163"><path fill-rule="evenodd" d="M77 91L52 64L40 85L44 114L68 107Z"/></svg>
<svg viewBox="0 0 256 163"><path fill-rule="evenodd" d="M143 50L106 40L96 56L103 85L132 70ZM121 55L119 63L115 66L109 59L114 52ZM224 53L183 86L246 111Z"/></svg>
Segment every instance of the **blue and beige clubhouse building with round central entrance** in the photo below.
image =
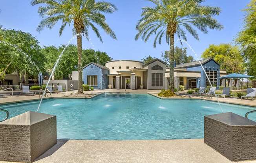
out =
<svg viewBox="0 0 256 163"><path fill-rule="evenodd" d="M220 86L219 77L227 74L219 69L219 64L212 58L174 64L174 86L184 85L185 89L194 89L210 85ZM205 71L205 72L204 72ZM168 89L169 68L165 62L154 59L144 64L134 60L112 60L106 65L89 63L83 67L83 81L95 89Z"/></svg>

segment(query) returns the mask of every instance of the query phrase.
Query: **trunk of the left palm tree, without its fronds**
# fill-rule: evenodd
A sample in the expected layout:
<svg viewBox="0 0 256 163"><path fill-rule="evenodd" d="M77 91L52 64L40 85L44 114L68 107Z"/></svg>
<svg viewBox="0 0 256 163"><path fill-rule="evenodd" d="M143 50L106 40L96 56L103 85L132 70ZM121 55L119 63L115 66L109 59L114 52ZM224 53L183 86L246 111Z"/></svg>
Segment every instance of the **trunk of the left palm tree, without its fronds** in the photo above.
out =
<svg viewBox="0 0 256 163"><path fill-rule="evenodd" d="M78 52L78 90L77 94L84 93L83 91L83 79L82 79L82 35L78 33L77 35L77 52Z"/></svg>

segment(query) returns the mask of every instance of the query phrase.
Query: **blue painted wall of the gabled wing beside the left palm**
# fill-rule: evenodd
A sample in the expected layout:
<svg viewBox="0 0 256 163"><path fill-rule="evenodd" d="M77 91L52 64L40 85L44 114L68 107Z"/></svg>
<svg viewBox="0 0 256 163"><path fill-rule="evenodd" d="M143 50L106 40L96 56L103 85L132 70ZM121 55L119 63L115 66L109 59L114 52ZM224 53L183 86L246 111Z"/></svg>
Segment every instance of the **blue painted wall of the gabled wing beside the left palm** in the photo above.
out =
<svg viewBox="0 0 256 163"><path fill-rule="evenodd" d="M83 69L83 81L84 84L87 84L87 76L88 75L97 75L98 85L94 87L94 89L107 89L108 87L108 70L101 69L98 66L93 65L92 63Z"/></svg>

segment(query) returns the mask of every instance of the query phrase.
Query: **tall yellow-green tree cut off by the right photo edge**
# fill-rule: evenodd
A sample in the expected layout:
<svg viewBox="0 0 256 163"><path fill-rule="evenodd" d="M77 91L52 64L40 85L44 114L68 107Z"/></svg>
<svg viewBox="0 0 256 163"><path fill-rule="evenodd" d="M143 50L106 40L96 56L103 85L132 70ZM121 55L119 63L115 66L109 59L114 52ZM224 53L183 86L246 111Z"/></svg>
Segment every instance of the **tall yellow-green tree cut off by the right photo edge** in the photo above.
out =
<svg viewBox="0 0 256 163"><path fill-rule="evenodd" d="M245 58L247 74L256 76L256 0L251 0L245 13L244 27L236 42L240 45Z"/></svg>

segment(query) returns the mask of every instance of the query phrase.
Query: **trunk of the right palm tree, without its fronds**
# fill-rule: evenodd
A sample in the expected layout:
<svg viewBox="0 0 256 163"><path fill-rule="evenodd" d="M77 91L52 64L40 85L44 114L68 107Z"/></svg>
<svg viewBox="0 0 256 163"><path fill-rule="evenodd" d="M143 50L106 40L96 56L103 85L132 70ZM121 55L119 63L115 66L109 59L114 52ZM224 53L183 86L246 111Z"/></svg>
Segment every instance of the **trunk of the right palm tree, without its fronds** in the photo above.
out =
<svg viewBox="0 0 256 163"><path fill-rule="evenodd" d="M170 85L169 89L174 91L174 33L170 33L170 53L169 53L169 68L170 68Z"/></svg>

